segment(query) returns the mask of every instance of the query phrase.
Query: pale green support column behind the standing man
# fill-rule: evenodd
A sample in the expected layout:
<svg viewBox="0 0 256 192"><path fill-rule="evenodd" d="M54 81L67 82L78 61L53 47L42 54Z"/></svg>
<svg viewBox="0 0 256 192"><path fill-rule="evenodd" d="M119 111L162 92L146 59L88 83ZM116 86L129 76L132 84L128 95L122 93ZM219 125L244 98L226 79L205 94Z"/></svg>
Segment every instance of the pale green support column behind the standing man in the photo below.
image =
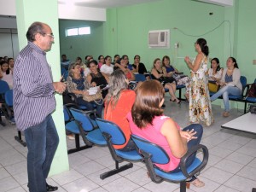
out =
<svg viewBox="0 0 256 192"><path fill-rule="evenodd" d="M23 49L27 44L26 31L33 22L44 22L51 27L55 36L55 44L52 45L51 50L47 53L47 61L51 67L54 81L59 81L61 78L61 61L57 0L16 0L16 16L20 49ZM69 170L62 96L55 95L55 100L57 106L55 113L53 113L53 119L60 137L60 143L49 175Z"/></svg>

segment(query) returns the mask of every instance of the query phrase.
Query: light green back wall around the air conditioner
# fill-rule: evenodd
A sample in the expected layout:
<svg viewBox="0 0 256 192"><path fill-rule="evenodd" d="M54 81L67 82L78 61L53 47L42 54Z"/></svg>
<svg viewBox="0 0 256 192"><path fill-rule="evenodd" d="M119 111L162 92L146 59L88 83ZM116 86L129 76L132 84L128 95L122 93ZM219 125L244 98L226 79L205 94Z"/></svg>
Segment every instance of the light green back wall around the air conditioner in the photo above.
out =
<svg viewBox="0 0 256 192"><path fill-rule="evenodd" d="M227 40L224 38L224 26L227 24L218 25L224 20L224 10L221 6L191 0L163 0L108 9L106 45L114 46L110 55L129 55L130 62L133 62L134 55L141 55L148 70L154 58L169 55L178 69L189 73L183 58L177 57L195 57L194 43L201 37L207 39L210 57L217 56L223 63L223 47ZM209 15L210 12L213 15ZM213 32L202 35L217 26ZM171 30L170 49L148 48L148 31L159 29ZM175 43L179 43L178 49L174 49Z"/></svg>

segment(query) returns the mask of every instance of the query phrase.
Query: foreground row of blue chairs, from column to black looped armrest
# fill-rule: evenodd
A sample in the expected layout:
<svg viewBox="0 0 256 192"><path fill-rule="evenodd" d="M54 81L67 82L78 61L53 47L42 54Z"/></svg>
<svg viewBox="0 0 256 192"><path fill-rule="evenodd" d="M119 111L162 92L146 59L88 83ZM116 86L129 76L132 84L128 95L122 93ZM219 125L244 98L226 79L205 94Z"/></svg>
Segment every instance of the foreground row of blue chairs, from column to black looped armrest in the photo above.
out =
<svg viewBox="0 0 256 192"><path fill-rule="evenodd" d="M181 159L181 171L172 173L160 170L154 164L166 164L169 162L169 157L166 151L160 146L150 143L147 140L132 135L131 138L136 143L137 148L132 151L122 151L113 148L113 145L122 145L125 143L125 135L118 125L105 119L91 119L91 112L84 112L72 106L64 106L64 114L67 115L66 129L75 134L76 148L68 150L68 154L76 151L91 148L93 145L108 146L110 154L115 161L115 168L109 172L104 172L100 175L102 179L110 177L116 173L123 172L133 166L133 162L143 162L148 170L148 176L154 183L161 183L168 181L172 183L180 183L180 191L186 191L186 179L195 174L199 174L201 170L207 165L208 150L204 145L197 145L192 148ZM66 116L66 115L65 115ZM79 145L79 136L83 138L85 145ZM203 159L195 159L193 164L186 168L186 160L189 156L195 154L198 150L202 151ZM128 164L119 166L120 162L128 161Z"/></svg>

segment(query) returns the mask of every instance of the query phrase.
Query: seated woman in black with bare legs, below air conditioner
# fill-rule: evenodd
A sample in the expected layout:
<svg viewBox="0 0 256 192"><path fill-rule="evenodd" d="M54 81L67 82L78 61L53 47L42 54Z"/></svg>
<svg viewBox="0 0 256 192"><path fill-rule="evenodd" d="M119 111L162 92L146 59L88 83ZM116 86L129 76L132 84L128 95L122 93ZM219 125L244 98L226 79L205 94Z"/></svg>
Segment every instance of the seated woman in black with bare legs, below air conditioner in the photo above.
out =
<svg viewBox="0 0 256 192"><path fill-rule="evenodd" d="M169 94L171 96L170 101L177 102L177 104L180 104L181 101L179 101L175 96L176 83L175 81L170 82L168 81L168 79L165 79L167 77L167 74L166 74L166 71L164 71L161 67L160 58L156 58L154 60L151 74L152 74L152 79L157 79L164 86L164 88L169 90Z"/></svg>

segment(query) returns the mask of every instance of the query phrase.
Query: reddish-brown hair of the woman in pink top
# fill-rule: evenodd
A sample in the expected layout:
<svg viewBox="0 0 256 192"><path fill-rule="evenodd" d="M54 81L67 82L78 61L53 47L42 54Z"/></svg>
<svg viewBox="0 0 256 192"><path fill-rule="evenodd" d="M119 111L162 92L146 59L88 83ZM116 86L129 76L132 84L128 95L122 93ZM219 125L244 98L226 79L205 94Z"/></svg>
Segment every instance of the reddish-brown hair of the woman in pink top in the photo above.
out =
<svg viewBox="0 0 256 192"><path fill-rule="evenodd" d="M165 90L157 80L147 80L137 87L136 100L131 108L133 122L139 127L152 125L155 116L163 114L160 102L165 96Z"/></svg>

